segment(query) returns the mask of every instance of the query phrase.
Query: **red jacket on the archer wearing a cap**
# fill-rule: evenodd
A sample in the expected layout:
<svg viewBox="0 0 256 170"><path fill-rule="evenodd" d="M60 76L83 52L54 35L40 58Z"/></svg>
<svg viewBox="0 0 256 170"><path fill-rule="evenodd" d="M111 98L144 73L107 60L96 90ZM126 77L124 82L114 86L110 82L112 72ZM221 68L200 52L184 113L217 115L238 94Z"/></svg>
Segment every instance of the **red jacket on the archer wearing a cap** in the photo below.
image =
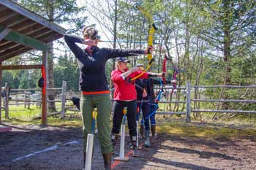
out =
<svg viewBox="0 0 256 170"><path fill-rule="evenodd" d="M128 69L127 69L128 70ZM127 71L126 70L126 71ZM132 74L129 74L126 80L123 80L121 77L120 70L116 69L111 72L111 80L114 83L115 86L115 93L114 93L114 100L117 101L129 101L129 100L136 100L137 99L137 93L135 89L135 82L128 82L127 79L138 76L141 72L132 72ZM140 77L140 79L148 79L148 74L144 73Z"/></svg>

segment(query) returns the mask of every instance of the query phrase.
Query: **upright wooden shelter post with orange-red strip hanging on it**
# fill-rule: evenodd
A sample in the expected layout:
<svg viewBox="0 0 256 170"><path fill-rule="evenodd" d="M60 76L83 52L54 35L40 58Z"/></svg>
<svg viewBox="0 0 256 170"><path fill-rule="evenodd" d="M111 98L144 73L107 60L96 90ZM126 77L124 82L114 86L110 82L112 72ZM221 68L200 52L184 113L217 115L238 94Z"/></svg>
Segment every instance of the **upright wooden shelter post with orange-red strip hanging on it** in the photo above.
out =
<svg viewBox="0 0 256 170"><path fill-rule="evenodd" d="M47 125L47 80L48 80L48 53L42 52L42 77L44 85L42 87L42 125Z"/></svg>

